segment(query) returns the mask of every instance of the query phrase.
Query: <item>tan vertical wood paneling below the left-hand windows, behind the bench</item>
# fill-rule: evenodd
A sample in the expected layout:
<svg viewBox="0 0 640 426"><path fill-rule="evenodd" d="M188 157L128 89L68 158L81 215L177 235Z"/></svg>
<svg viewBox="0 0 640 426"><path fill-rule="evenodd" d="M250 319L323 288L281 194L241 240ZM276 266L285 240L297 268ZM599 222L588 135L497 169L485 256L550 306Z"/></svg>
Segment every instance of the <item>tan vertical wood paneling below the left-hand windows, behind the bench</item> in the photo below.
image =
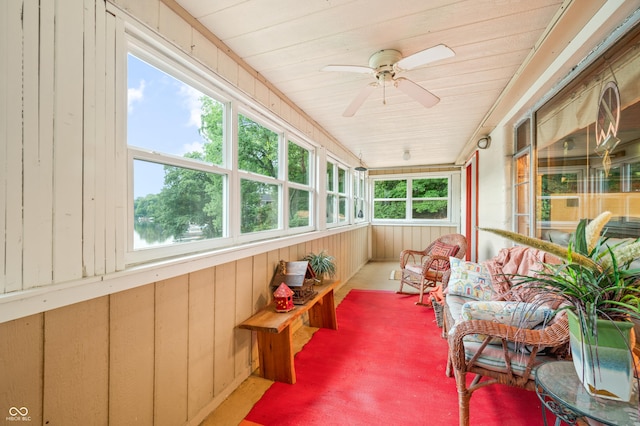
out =
<svg viewBox="0 0 640 426"><path fill-rule="evenodd" d="M257 366L236 329L270 301L280 259L326 249L343 282L367 262L359 227L0 324L0 412L30 424L198 424Z"/></svg>

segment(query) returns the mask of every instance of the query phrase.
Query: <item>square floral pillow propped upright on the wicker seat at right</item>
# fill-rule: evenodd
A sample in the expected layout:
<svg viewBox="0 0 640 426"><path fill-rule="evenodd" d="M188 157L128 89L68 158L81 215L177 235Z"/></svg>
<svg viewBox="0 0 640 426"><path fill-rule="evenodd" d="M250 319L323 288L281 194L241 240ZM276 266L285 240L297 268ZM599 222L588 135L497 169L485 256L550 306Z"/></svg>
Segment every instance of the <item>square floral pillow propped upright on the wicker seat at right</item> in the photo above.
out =
<svg viewBox="0 0 640 426"><path fill-rule="evenodd" d="M451 276L446 294L469 297L474 300L491 300L495 296L491 275L481 263L467 262L451 257Z"/></svg>

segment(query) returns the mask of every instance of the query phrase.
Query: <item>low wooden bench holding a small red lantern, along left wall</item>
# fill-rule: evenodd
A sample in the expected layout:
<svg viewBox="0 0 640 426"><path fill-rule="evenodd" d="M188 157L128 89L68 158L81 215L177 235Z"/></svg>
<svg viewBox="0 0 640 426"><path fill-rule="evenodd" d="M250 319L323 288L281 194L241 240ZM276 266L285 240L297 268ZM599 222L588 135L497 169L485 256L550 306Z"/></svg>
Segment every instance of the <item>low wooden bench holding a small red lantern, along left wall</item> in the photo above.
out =
<svg viewBox="0 0 640 426"><path fill-rule="evenodd" d="M258 333L258 356L262 377L278 382L294 384L296 371L293 365L293 333L291 324L305 312L309 312L311 327L338 329L333 290L339 281L315 286L316 296L304 305L296 305L292 311L276 312L273 303L238 325L239 328Z"/></svg>

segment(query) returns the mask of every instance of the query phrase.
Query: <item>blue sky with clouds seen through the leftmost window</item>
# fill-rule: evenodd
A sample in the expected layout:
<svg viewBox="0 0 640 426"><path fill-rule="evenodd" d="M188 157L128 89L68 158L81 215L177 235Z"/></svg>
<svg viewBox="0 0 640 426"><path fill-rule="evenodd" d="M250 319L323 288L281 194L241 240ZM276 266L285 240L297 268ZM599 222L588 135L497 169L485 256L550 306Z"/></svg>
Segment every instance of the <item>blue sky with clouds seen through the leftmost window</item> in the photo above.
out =
<svg viewBox="0 0 640 426"><path fill-rule="evenodd" d="M202 93L129 55L127 143L153 151L184 155L202 151L198 133ZM162 189L162 166L136 162L134 198Z"/></svg>

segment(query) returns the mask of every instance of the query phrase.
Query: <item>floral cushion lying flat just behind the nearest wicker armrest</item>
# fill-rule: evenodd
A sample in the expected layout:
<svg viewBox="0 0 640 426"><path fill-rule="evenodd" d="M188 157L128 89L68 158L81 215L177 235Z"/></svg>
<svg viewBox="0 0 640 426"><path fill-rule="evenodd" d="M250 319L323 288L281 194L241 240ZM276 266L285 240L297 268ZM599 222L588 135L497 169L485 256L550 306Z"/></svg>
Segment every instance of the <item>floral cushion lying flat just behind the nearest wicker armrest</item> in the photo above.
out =
<svg viewBox="0 0 640 426"><path fill-rule="evenodd" d="M472 301L462 306L460 320L486 320L523 329L532 329L553 317L554 310L546 306L511 301ZM466 341L482 342L483 335L468 335ZM494 339L491 343L500 343Z"/></svg>

